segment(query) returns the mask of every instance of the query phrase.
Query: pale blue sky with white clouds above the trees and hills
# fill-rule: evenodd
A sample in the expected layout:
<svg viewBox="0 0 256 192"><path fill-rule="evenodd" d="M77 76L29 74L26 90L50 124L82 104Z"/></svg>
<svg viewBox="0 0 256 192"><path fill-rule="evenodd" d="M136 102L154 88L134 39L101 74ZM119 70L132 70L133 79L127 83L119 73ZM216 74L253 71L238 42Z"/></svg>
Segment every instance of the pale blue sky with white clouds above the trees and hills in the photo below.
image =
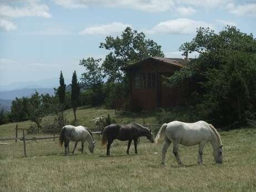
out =
<svg viewBox="0 0 256 192"><path fill-rule="evenodd" d="M82 58L104 60L106 36L127 26L162 46L166 57L198 27L225 26L256 35L256 0L0 0L0 86L14 82L71 79L85 71ZM195 57L195 54L189 57Z"/></svg>

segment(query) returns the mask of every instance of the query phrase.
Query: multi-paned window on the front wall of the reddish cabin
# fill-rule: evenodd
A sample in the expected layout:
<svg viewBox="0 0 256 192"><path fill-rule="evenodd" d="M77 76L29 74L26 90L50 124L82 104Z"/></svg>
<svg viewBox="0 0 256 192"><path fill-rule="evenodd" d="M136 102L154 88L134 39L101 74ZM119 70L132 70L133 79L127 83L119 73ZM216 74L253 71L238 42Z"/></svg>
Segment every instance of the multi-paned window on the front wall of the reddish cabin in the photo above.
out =
<svg viewBox="0 0 256 192"><path fill-rule="evenodd" d="M135 76L135 88L155 88L155 73L137 73Z"/></svg>

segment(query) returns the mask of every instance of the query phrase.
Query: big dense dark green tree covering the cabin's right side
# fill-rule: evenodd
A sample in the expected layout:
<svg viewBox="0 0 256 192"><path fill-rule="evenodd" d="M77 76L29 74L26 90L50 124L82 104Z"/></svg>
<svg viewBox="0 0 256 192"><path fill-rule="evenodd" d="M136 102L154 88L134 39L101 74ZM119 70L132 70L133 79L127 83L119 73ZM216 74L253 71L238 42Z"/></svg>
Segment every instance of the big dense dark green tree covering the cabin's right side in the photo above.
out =
<svg viewBox="0 0 256 192"><path fill-rule="evenodd" d="M219 34L199 28L191 42L180 46L184 52L198 52L188 67L168 79L171 86L189 80L195 83L196 109L201 118L219 124L244 124L256 111L256 40L253 35L227 26ZM190 95L190 96L191 96ZM194 97L195 98L195 97ZM192 99L193 100L193 99Z"/></svg>

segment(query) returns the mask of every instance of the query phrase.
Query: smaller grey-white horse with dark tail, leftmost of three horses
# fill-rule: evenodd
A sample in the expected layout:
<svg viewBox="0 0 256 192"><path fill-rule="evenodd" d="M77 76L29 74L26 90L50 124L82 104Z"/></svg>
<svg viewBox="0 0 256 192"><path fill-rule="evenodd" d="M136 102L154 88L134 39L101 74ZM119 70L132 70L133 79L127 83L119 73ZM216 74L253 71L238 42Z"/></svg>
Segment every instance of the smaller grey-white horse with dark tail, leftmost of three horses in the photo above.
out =
<svg viewBox="0 0 256 192"><path fill-rule="evenodd" d="M85 141L89 142L89 151L93 152L93 149L95 147L95 141L92 137L92 132L87 128L83 126L72 126L72 125L66 125L62 128L61 134L60 134L60 145L62 146L63 142L65 143L65 155L68 154L67 148L70 141L75 141L75 147L72 151L72 155L74 154L74 151L76 149L78 141L82 142L82 152L83 152L83 144Z"/></svg>

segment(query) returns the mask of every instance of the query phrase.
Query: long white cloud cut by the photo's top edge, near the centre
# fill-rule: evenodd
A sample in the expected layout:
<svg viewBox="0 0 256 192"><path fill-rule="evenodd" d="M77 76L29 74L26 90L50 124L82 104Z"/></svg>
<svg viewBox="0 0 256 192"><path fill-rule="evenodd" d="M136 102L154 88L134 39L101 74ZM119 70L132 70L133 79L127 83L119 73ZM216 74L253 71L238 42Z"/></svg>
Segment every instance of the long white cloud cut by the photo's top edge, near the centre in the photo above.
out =
<svg viewBox="0 0 256 192"><path fill-rule="evenodd" d="M100 5L112 8L130 8L146 12L167 11L174 6L174 0L53 0L64 8L86 8L88 6Z"/></svg>

